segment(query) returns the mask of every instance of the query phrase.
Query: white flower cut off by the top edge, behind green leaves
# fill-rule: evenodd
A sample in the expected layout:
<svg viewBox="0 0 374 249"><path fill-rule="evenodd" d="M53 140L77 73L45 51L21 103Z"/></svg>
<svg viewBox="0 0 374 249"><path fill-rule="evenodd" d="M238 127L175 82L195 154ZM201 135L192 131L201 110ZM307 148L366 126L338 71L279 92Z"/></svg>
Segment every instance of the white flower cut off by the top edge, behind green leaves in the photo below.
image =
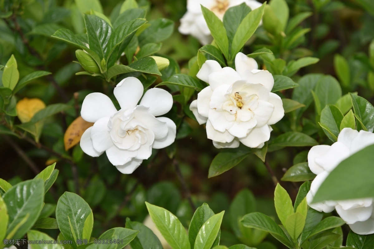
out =
<svg viewBox="0 0 374 249"><path fill-rule="evenodd" d="M252 10L262 5L255 0L187 0L187 12L181 18L181 25L178 30L181 34L190 34L196 37L203 45L211 43L213 39L205 22L200 4L223 20L227 9L242 3L246 3Z"/></svg>

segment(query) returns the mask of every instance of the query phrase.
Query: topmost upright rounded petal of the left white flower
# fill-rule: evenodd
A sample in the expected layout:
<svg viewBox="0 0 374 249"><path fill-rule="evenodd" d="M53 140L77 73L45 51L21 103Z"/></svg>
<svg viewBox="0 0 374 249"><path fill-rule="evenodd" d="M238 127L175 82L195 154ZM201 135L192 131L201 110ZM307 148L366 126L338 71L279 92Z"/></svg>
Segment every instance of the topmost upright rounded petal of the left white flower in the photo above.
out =
<svg viewBox="0 0 374 249"><path fill-rule="evenodd" d="M121 106L121 109L130 106L134 108L143 95L144 87L140 80L135 77L128 77L120 81L114 88L113 93Z"/></svg>

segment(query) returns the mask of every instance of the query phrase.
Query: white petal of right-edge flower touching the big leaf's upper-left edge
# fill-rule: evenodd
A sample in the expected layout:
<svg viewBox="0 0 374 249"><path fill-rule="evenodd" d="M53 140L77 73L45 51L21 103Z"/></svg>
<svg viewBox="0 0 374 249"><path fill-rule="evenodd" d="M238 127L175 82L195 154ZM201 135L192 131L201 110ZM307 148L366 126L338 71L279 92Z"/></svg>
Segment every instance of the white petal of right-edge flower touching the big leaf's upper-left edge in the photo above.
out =
<svg viewBox="0 0 374 249"><path fill-rule="evenodd" d="M324 156L316 158L315 162L328 172L331 172L341 161L349 157L349 155L348 147L341 142L336 142L331 145Z"/></svg>

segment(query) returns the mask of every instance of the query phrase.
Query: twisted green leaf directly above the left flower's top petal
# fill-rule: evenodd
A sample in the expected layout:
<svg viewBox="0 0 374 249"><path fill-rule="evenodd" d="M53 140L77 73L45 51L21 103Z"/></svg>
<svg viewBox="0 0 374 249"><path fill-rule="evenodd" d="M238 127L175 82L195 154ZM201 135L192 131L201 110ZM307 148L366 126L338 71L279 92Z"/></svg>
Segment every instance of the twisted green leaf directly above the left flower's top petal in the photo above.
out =
<svg viewBox="0 0 374 249"><path fill-rule="evenodd" d="M108 79L129 72L143 72L148 74L161 75L157 68L156 61L151 57L142 58L136 62L131 63L128 66L125 65L114 65L108 70Z"/></svg>

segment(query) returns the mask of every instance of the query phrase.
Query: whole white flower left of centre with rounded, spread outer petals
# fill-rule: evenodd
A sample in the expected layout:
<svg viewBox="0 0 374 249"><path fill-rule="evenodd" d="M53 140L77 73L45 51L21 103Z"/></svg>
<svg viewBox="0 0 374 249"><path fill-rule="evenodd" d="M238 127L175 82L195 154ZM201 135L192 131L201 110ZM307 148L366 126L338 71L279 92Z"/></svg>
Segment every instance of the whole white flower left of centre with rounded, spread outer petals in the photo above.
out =
<svg viewBox="0 0 374 249"><path fill-rule="evenodd" d="M169 112L170 93L160 88L148 90L140 104L144 88L134 77L122 80L114 88L120 110L102 93L88 94L80 114L95 124L83 133L80 147L90 156L106 152L111 164L123 174L131 174L152 154L175 140L176 126L169 118L155 116Z"/></svg>

